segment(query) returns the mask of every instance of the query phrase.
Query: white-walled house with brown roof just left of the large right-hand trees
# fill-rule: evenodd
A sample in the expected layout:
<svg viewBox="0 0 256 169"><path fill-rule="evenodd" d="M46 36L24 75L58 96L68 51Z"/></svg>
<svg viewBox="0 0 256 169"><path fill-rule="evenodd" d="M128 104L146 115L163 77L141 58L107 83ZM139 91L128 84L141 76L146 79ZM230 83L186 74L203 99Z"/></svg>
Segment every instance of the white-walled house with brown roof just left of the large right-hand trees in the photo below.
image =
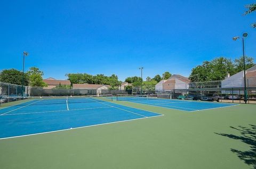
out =
<svg viewBox="0 0 256 169"><path fill-rule="evenodd" d="M161 80L155 86L156 91L170 91L175 89L188 89L190 80L179 74L173 74L167 80Z"/></svg>

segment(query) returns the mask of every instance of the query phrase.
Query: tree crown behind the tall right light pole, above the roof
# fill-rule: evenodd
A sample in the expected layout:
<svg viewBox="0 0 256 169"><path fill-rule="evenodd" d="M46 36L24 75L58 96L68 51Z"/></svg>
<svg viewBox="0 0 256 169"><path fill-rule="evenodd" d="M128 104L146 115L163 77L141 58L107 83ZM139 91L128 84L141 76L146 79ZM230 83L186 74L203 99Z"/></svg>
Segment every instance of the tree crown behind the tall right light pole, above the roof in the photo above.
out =
<svg viewBox="0 0 256 169"><path fill-rule="evenodd" d="M251 68L254 66L254 60L252 57L245 56L245 70ZM234 61L234 66L235 66L235 73L241 72L244 70L244 57L241 56L239 58L236 58Z"/></svg>

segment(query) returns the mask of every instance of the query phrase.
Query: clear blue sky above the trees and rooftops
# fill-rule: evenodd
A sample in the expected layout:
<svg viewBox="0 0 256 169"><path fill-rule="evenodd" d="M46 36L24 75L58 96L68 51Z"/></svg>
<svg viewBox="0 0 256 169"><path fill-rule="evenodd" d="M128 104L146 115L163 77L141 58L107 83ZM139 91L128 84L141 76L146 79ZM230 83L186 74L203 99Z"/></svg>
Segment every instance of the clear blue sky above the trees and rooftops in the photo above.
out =
<svg viewBox="0 0 256 169"><path fill-rule="evenodd" d="M253 1L2 1L2 69L39 67L44 78L66 73L117 74L119 80L172 74L188 76L205 60L246 54L256 59Z"/></svg>

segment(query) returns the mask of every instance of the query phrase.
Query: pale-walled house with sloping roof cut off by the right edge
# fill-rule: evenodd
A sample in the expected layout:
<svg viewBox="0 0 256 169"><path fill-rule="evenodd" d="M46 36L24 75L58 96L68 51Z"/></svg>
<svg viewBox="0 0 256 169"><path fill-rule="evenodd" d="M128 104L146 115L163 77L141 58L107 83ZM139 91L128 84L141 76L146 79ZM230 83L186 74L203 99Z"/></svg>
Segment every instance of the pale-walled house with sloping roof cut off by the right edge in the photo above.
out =
<svg viewBox="0 0 256 169"><path fill-rule="evenodd" d="M256 65L245 71L246 87L256 87ZM238 72L221 81L221 88L244 87L244 71Z"/></svg>

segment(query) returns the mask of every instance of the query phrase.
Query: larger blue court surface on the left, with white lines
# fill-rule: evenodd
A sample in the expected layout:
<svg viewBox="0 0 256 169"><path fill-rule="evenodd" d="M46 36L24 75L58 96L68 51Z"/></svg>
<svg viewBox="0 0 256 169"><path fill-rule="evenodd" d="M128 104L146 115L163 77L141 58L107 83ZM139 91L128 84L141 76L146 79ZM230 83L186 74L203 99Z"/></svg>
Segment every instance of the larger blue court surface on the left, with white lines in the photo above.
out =
<svg viewBox="0 0 256 169"><path fill-rule="evenodd" d="M0 109L0 139L161 116L94 98L82 101L34 99Z"/></svg>

